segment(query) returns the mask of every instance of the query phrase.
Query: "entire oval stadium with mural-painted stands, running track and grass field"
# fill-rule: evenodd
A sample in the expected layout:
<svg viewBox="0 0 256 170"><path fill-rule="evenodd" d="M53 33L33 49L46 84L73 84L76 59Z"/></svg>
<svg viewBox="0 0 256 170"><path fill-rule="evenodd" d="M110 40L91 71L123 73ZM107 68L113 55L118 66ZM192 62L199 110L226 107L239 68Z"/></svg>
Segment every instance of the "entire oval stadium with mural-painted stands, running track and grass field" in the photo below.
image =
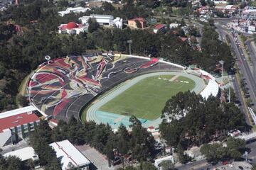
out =
<svg viewBox="0 0 256 170"><path fill-rule="evenodd" d="M208 72L159 58L121 54L66 56L41 64L28 82L31 105L57 120L129 127L137 116L145 128L158 127L165 102L179 91L204 98L220 94Z"/></svg>

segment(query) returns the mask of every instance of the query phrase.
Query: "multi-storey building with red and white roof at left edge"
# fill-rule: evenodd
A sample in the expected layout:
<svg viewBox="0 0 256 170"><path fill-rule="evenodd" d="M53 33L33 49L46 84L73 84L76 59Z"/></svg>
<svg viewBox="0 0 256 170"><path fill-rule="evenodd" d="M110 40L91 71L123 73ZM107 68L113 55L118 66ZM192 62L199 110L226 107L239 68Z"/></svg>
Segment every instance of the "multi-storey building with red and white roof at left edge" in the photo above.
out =
<svg viewBox="0 0 256 170"><path fill-rule="evenodd" d="M34 112L36 108L27 106L0 113L0 147L15 144L33 131L40 121Z"/></svg>

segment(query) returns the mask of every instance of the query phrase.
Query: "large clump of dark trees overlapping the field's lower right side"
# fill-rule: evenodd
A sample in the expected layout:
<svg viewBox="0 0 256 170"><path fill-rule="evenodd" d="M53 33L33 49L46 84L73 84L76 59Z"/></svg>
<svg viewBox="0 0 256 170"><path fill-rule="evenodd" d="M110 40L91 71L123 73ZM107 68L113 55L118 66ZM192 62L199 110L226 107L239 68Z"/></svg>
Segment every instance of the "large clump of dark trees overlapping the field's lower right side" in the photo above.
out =
<svg viewBox="0 0 256 170"><path fill-rule="evenodd" d="M190 91L169 99L161 117L159 130L173 147L199 146L216 138L223 140L229 130L246 128L245 115L234 103L220 103L213 96L206 100Z"/></svg>

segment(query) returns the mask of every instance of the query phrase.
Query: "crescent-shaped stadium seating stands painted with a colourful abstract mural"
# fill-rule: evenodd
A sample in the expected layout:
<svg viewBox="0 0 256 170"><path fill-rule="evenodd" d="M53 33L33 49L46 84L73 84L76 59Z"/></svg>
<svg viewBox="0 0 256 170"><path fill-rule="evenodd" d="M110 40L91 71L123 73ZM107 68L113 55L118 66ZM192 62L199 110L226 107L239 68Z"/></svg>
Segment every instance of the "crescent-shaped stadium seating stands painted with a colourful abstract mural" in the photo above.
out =
<svg viewBox="0 0 256 170"><path fill-rule="evenodd" d="M186 68L159 58L121 54L66 56L39 65L28 82L31 105L46 116L80 119L82 108L127 79L155 72L181 72L206 80L200 94L217 96L215 78L201 69Z"/></svg>

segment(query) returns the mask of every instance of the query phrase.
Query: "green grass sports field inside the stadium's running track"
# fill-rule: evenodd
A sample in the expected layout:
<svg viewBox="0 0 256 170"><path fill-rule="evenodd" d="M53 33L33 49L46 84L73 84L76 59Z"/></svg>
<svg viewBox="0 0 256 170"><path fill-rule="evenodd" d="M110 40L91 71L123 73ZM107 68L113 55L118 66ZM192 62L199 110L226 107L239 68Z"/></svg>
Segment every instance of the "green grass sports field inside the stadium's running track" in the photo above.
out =
<svg viewBox="0 0 256 170"><path fill-rule="evenodd" d="M173 77L174 75L165 75L143 79L106 103L100 111L135 115L137 118L147 120L159 118L166 101L171 96L179 91L188 91L195 87L195 82L186 77L178 77L174 81L169 81ZM188 83L181 81L188 81Z"/></svg>

